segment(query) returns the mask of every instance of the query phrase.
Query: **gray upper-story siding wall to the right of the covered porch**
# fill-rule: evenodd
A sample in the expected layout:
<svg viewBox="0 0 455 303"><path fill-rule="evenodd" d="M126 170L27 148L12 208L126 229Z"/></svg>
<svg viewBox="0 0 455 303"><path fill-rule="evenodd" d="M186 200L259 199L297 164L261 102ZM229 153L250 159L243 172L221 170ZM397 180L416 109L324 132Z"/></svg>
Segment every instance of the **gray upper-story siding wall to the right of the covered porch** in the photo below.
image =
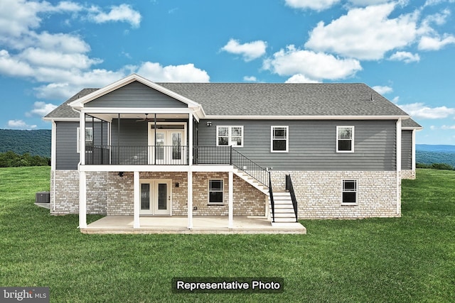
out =
<svg viewBox="0 0 455 303"><path fill-rule="evenodd" d="M216 126L244 126L243 155L273 170L396 170L396 121L200 121L199 145L216 145ZM289 153L271 153L271 126L289 126ZM354 126L354 153L336 153L336 126Z"/></svg>

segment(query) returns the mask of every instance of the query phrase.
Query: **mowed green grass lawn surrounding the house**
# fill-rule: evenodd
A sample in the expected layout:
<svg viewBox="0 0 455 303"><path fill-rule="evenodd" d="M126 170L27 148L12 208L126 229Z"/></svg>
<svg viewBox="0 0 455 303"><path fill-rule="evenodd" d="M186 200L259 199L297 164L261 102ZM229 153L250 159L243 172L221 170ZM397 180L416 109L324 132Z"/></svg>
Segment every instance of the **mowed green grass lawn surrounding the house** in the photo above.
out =
<svg viewBox="0 0 455 303"><path fill-rule="evenodd" d="M76 215L33 205L49 177L0 169L0 286L48 286L51 302L455 298L455 172L403 181L402 218L302 221L307 235L85 235ZM284 292L173 294L173 277L284 277Z"/></svg>

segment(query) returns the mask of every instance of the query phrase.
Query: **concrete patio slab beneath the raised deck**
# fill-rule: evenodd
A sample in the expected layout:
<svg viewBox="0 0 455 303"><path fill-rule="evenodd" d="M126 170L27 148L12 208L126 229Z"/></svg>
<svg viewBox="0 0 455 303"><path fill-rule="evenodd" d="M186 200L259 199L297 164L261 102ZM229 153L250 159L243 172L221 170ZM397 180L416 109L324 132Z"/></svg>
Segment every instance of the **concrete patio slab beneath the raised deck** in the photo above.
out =
<svg viewBox="0 0 455 303"><path fill-rule="evenodd" d="M141 216L140 228L133 228L133 216L105 216L82 233L306 233L299 223L272 223L264 217L235 216L228 228L228 216L194 216L193 228L188 229L186 216Z"/></svg>

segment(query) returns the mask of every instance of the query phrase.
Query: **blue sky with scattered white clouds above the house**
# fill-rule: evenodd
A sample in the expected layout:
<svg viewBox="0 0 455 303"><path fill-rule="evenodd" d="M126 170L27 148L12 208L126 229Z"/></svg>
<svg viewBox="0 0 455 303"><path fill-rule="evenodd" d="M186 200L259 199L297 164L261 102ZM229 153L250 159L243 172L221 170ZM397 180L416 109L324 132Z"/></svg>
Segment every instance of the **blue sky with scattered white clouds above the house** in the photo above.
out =
<svg viewBox="0 0 455 303"><path fill-rule="evenodd" d="M0 0L0 128L132 72L156 82L363 82L455 145L455 0Z"/></svg>

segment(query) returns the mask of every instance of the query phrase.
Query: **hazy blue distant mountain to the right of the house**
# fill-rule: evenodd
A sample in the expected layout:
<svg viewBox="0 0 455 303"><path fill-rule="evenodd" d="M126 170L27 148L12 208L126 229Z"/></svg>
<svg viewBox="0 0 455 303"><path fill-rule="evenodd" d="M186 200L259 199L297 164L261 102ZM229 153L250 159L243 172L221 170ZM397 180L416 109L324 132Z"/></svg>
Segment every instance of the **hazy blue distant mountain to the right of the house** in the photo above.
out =
<svg viewBox="0 0 455 303"><path fill-rule="evenodd" d="M455 145L415 145L415 160L418 163L445 163L455 167Z"/></svg>

